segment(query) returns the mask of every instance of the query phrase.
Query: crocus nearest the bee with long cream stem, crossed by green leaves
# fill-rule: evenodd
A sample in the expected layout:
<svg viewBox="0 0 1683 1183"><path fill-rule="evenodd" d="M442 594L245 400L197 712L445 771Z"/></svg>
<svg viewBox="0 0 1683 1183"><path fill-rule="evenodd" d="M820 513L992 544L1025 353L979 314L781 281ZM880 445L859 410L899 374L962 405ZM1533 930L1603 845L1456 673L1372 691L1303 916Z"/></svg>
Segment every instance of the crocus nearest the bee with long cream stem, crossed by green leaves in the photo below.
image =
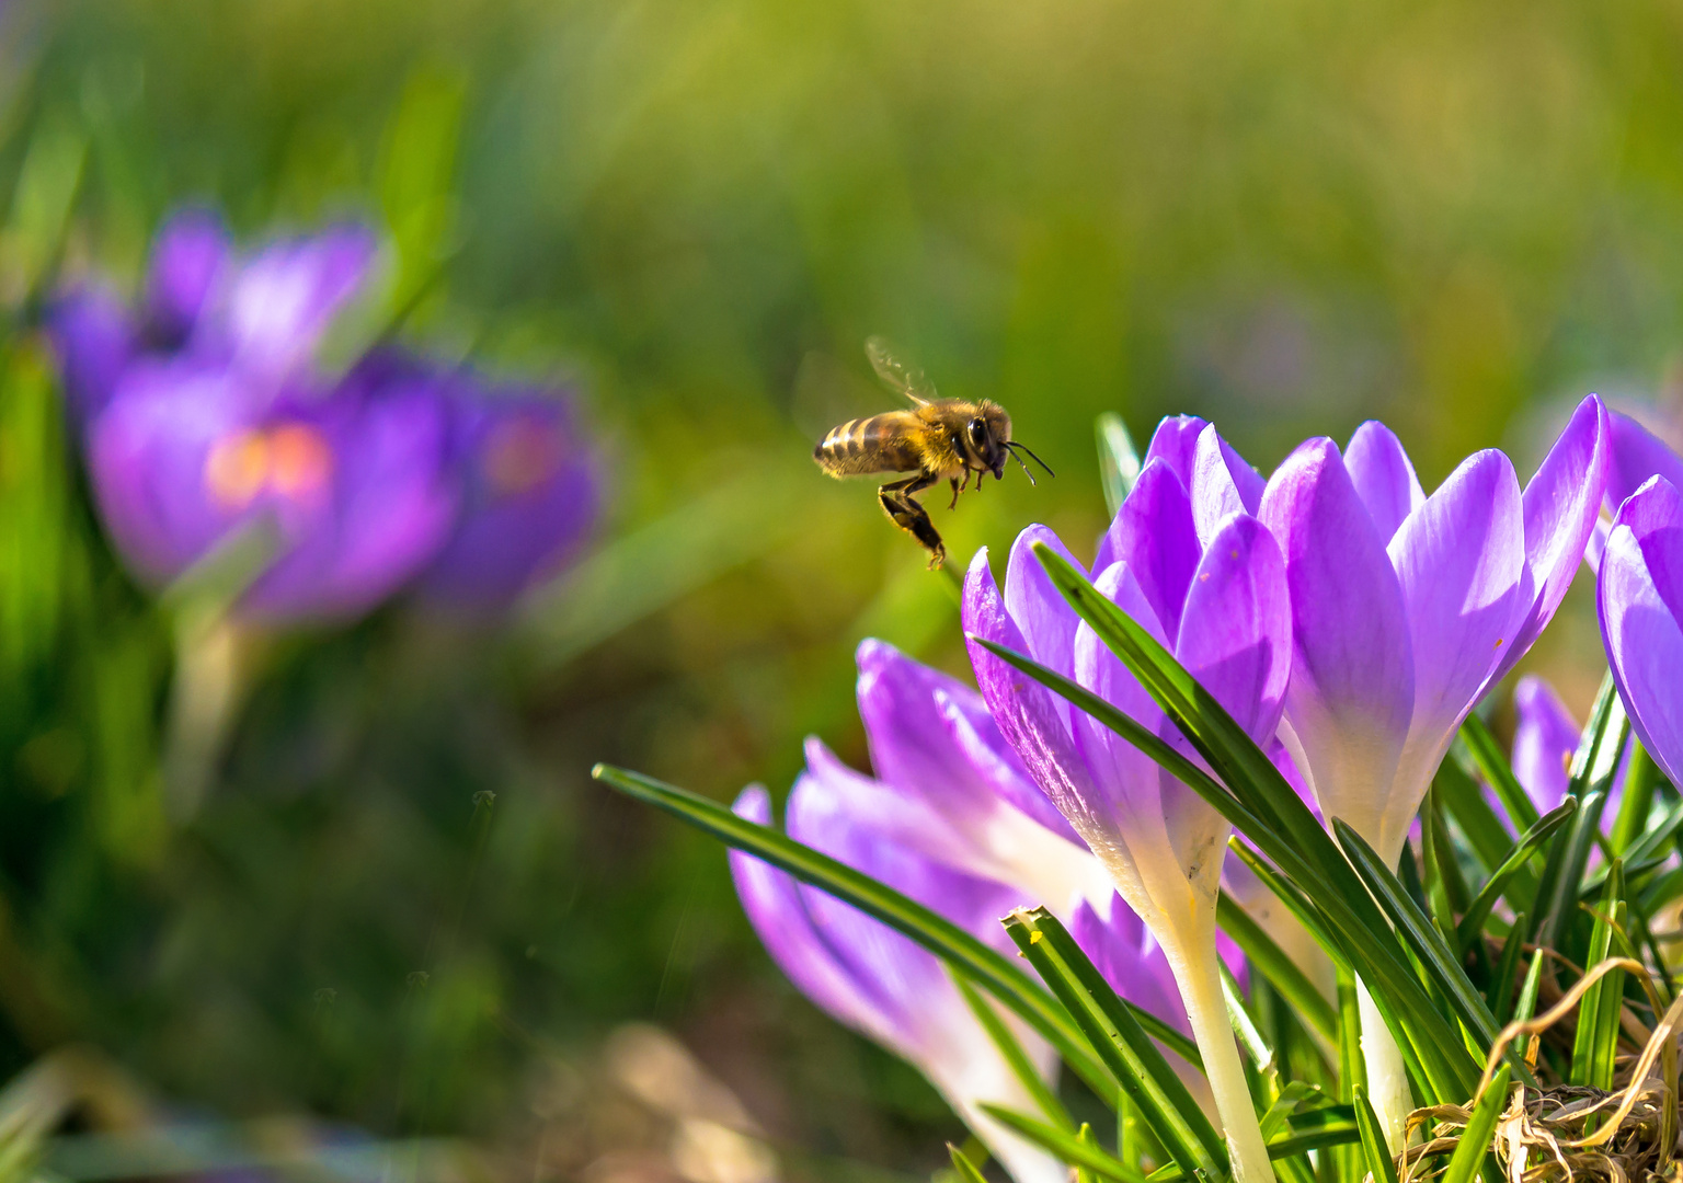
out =
<svg viewBox="0 0 1683 1183"><path fill-rule="evenodd" d="M1259 493L1261 480L1213 427L1165 421L1099 544L1094 584L1175 653L1252 739L1271 744L1291 666L1291 611L1279 547L1252 515ZM1213 956L1227 821L1124 739L974 643L1027 653L1185 742L1057 592L1035 544L1069 559L1050 530L1030 527L1011 547L1003 596L986 552L969 567L963 616L976 682L1023 766L1168 956L1237 1178L1272 1178Z"/></svg>

